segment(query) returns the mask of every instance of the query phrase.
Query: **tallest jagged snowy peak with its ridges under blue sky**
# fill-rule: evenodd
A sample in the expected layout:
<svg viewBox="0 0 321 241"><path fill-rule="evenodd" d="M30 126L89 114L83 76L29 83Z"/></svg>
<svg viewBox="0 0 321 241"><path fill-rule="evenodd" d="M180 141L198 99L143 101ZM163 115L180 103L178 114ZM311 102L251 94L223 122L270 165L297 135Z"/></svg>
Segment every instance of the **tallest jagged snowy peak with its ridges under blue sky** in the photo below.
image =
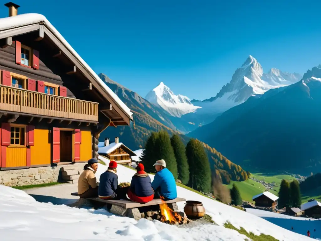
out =
<svg viewBox="0 0 321 241"><path fill-rule="evenodd" d="M250 96L294 84L301 77L299 74L283 73L275 68L263 74L260 63L250 55L235 71L230 83L224 85L215 97L204 101L192 101L192 103L202 107L197 113L220 113L245 102Z"/></svg>

